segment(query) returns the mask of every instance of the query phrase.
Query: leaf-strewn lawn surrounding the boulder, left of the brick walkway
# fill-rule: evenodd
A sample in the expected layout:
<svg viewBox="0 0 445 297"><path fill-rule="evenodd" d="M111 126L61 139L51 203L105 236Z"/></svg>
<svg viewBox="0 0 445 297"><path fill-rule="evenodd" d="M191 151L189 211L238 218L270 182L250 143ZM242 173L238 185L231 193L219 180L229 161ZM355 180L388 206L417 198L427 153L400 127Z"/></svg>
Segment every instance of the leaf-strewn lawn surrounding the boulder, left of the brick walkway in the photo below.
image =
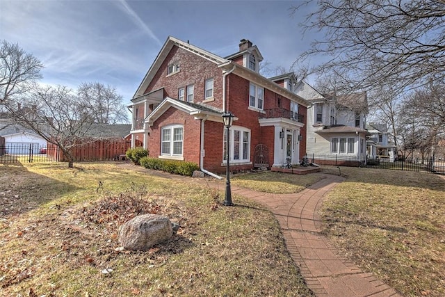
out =
<svg viewBox="0 0 445 297"><path fill-rule="evenodd" d="M2 296L312 296L258 204L113 163L0 164ZM178 234L120 249L118 227L169 216Z"/></svg>

